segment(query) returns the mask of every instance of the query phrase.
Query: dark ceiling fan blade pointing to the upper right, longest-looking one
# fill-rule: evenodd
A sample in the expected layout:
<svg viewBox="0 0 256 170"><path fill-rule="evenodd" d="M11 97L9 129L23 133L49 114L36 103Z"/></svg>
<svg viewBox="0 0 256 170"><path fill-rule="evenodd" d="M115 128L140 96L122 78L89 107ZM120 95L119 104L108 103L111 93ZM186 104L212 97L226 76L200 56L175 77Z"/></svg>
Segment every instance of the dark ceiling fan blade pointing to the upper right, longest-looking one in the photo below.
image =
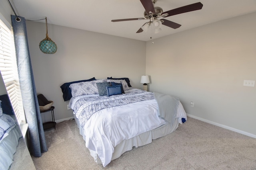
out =
<svg viewBox="0 0 256 170"><path fill-rule="evenodd" d="M168 14L168 16L174 16L174 15L182 14L182 13L185 13L185 12L201 10L202 7L203 7L203 4L201 2L197 2L197 3L194 3L194 4L190 4L190 5L187 5L187 6L182 6L180 8L176 8L176 9L173 9L173 10L170 10L170 11L163 12L162 15L163 14ZM168 16L164 16L164 17L168 17Z"/></svg>

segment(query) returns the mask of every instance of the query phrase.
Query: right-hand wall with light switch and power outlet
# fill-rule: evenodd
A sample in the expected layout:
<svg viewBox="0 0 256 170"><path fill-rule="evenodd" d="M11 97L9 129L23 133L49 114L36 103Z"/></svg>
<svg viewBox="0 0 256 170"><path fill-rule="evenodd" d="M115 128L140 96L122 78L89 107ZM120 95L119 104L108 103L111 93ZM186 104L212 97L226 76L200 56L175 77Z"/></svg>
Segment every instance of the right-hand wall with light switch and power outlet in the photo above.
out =
<svg viewBox="0 0 256 170"><path fill-rule="evenodd" d="M243 86L244 80L256 80L255 18L252 13L162 37L153 45L148 41L150 91L177 96L192 117L256 137L256 87Z"/></svg>

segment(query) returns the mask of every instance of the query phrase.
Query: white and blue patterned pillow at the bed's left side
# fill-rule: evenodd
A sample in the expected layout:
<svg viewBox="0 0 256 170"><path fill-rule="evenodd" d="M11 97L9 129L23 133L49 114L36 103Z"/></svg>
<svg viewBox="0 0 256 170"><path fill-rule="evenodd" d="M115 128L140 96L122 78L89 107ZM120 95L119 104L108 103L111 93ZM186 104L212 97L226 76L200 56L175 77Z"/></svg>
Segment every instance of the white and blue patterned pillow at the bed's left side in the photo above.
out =
<svg viewBox="0 0 256 170"><path fill-rule="evenodd" d="M106 79L93 80L90 82L79 82L70 84L72 97L88 95L88 94L99 94L96 83L106 82Z"/></svg>

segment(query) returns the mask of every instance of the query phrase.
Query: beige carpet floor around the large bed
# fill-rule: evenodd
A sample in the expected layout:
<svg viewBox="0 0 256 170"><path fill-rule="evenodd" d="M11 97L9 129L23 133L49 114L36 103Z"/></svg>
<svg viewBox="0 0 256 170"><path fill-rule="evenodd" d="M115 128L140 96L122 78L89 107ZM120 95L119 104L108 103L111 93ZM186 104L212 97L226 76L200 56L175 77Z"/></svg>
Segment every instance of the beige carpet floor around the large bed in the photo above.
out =
<svg viewBox="0 0 256 170"><path fill-rule="evenodd" d="M94 162L74 120L45 131L38 170L256 170L256 139L193 118L173 133L134 148L105 168Z"/></svg>

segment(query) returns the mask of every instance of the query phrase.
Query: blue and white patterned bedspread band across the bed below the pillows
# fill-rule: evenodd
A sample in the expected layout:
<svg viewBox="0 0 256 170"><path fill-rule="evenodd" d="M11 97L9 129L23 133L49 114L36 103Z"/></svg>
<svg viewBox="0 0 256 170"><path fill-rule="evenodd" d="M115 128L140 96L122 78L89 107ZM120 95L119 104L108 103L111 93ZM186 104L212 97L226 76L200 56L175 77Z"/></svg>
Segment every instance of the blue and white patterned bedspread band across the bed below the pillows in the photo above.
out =
<svg viewBox="0 0 256 170"><path fill-rule="evenodd" d="M125 94L115 95L115 96L91 96L91 97L82 97L75 102L74 113L76 118L78 118L80 125L84 127L85 123L90 119L90 117L101 109L108 107L122 106L126 104L131 104L134 102L140 102L144 100L154 99L154 94L152 92L146 92L140 89L134 89Z"/></svg>

